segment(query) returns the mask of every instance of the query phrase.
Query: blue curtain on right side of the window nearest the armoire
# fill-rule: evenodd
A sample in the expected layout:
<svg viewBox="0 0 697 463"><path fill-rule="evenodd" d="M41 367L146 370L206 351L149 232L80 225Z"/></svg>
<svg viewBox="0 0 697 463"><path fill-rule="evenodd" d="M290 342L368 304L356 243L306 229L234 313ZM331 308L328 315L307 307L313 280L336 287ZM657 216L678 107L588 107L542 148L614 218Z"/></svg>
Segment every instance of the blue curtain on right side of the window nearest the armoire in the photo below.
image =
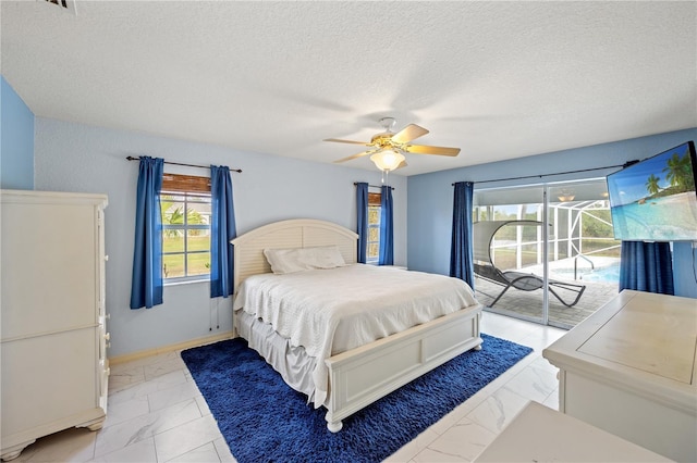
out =
<svg viewBox="0 0 697 463"><path fill-rule="evenodd" d="M230 168L210 166L210 297L232 295L233 259L231 239L237 236Z"/></svg>

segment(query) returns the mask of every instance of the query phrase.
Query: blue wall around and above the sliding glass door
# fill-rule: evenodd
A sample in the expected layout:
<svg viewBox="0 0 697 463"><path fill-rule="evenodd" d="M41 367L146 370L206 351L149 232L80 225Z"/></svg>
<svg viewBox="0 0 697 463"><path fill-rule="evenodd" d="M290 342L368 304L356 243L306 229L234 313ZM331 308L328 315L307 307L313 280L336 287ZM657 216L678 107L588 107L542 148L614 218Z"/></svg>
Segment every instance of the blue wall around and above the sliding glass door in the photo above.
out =
<svg viewBox="0 0 697 463"><path fill-rule="evenodd" d="M657 154L687 140L697 140L697 128L412 176L408 178L409 202L407 205L408 266L411 270L443 275L449 273L453 213L452 184L455 182L475 182L476 189L477 182L499 178L537 176L537 178L487 183L486 188L604 177L617 168L567 175L543 175L621 165L626 161ZM484 184L480 185L484 186ZM690 243L680 243L674 247L675 287L680 296L697 298L695 252Z"/></svg>

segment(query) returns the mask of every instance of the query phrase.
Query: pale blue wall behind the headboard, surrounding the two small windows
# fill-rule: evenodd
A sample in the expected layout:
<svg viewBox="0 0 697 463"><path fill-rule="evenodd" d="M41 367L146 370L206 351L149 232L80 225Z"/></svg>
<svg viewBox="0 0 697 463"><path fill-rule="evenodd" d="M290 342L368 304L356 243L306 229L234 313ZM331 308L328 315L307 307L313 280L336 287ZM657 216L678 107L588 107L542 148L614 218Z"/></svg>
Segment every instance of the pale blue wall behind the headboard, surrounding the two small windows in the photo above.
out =
<svg viewBox="0 0 697 463"><path fill-rule="evenodd" d="M208 283L170 286L164 303L131 310L134 204L138 163L127 155L228 165L232 174L237 234L284 218L328 220L356 229L354 182L380 184L380 173L290 158L240 152L139 133L36 118L36 189L107 193L107 311L110 356L164 347L232 329L232 301L208 297ZM206 170L166 165L166 172L208 175ZM395 264L406 263L406 178L394 189ZM209 330L212 318L212 330ZM218 326L218 318L220 328Z"/></svg>

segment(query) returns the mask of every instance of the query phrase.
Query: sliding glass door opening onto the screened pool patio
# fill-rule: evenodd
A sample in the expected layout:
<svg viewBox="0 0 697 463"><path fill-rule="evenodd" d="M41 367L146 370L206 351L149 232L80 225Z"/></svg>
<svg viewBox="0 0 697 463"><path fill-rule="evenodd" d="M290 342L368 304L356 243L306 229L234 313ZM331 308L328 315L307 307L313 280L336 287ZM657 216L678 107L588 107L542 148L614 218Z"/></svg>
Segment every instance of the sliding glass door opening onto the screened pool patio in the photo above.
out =
<svg viewBox="0 0 697 463"><path fill-rule="evenodd" d="M617 293L604 178L475 189L474 205L485 310L570 329Z"/></svg>

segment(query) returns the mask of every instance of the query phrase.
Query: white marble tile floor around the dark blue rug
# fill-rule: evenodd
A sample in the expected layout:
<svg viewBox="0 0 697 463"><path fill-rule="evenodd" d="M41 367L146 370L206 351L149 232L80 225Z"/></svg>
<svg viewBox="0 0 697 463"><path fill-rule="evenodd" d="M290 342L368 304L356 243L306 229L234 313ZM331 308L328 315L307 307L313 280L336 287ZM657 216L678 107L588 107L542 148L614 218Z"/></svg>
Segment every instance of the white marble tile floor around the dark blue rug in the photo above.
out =
<svg viewBox="0 0 697 463"><path fill-rule="evenodd" d="M469 462L528 401L559 405L557 368L541 356L562 329L485 312L482 331L535 352L408 442L389 462ZM14 462L234 462L179 352L112 365L101 430L38 439ZM262 458L260 458L262 460Z"/></svg>

